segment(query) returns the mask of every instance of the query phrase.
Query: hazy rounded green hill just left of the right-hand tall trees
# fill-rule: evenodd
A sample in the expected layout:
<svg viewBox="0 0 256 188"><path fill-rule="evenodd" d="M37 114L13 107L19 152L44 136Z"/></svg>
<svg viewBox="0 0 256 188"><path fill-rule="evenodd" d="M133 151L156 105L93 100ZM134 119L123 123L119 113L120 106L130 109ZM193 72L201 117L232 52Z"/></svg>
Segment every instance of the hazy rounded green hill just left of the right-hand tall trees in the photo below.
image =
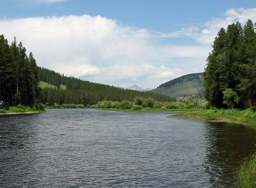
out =
<svg viewBox="0 0 256 188"><path fill-rule="evenodd" d="M180 98L183 96L203 96L204 73L193 73L180 76L170 80L169 82L159 85L156 89L150 90L156 94L164 94L172 98Z"/></svg>

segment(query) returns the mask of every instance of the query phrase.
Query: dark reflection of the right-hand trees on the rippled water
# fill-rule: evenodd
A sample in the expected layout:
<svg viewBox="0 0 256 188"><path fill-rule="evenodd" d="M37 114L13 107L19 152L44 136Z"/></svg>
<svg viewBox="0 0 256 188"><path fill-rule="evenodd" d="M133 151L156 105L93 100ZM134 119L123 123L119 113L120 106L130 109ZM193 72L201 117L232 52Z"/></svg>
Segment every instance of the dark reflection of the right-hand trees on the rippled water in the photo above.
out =
<svg viewBox="0 0 256 188"><path fill-rule="evenodd" d="M205 171L211 175L211 183L236 186L239 164L256 152L255 130L225 122L211 122L205 127Z"/></svg>

